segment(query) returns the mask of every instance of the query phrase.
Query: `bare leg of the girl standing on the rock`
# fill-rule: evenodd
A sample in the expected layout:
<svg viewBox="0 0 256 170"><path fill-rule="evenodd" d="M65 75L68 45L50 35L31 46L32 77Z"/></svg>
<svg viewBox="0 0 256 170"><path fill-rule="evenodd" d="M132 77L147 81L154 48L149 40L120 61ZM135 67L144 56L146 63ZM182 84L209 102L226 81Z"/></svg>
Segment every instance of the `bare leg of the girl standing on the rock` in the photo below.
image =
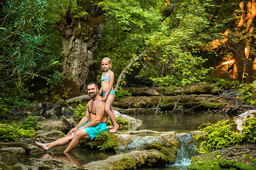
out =
<svg viewBox="0 0 256 170"><path fill-rule="evenodd" d="M107 96L107 100L106 100L106 106L105 106L105 111L108 114L108 116L110 117L110 120L112 122L113 125L113 129L109 130L110 133L116 133L117 129L119 128L119 125L116 122L116 118L114 115L114 109L112 107L112 103L115 99L115 95L114 94L109 94Z"/></svg>

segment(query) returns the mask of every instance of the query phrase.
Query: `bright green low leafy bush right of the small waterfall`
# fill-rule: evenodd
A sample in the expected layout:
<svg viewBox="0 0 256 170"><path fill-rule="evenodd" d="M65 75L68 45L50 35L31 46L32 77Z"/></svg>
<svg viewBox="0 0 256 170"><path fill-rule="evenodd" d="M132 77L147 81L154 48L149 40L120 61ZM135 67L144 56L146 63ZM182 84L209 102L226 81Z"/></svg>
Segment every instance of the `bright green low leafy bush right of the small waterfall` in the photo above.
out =
<svg viewBox="0 0 256 170"><path fill-rule="evenodd" d="M202 128L202 126L206 126ZM199 152L201 154L205 154L211 152L215 149L215 147L230 147L236 146L239 143L254 143L256 142L256 118L251 117L247 118L243 133L238 134L236 131L230 130L231 124L229 120L221 120L216 124L205 123L201 125L200 131L204 131L203 135L195 135L195 140L199 140L200 138L204 138L204 141L200 143Z"/></svg>

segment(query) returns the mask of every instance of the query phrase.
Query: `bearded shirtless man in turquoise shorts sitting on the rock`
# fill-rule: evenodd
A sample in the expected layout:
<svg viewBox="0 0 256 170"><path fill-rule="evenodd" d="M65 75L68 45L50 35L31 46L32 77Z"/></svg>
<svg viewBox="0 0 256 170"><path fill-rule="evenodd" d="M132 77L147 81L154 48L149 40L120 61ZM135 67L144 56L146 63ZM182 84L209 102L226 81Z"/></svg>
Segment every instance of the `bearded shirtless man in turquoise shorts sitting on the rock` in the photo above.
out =
<svg viewBox="0 0 256 170"><path fill-rule="evenodd" d="M69 133L61 139L51 143L39 143L36 145L45 151L55 146L62 146L69 143L64 152L71 152L77 145L80 139L93 140L100 132L107 130L108 116L104 112L105 102L100 101L102 97L98 95L98 86L96 83L89 83L87 85L87 93L91 100L87 104L86 114L80 122L69 131Z"/></svg>

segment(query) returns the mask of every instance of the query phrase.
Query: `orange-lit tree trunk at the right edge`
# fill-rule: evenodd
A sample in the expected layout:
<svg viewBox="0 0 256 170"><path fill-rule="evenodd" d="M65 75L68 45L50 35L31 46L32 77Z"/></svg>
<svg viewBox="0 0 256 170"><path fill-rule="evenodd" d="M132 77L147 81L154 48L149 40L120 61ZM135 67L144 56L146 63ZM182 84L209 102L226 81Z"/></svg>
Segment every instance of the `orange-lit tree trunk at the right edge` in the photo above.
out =
<svg viewBox="0 0 256 170"><path fill-rule="evenodd" d="M255 76L255 71L253 70L253 62L255 59L255 53L252 50L255 46L255 39L252 36L254 33L254 28L256 24L255 15L256 15L256 3L253 0L245 0L240 3L242 15L237 23L237 27L240 31L238 33L238 39L241 39L240 33L242 36L246 36L247 40L240 40L237 43L228 41L228 46L232 49L234 59L236 60L238 80L242 83L251 83L253 77Z"/></svg>

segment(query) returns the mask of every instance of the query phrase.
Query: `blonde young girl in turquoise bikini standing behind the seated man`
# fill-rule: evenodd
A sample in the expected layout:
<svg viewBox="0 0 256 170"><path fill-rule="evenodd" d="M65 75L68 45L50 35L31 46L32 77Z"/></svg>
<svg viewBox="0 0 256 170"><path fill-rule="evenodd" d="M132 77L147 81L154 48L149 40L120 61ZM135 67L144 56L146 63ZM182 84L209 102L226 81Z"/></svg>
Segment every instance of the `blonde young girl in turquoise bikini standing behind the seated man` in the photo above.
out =
<svg viewBox="0 0 256 170"><path fill-rule="evenodd" d="M114 109L112 107L112 103L115 99L115 91L113 88L114 83L114 73L110 70L111 69L111 59L110 58L103 58L102 59L102 69L105 71L102 74L100 81L102 82L102 87L100 87L99 95L103 95L102 101L106 101L105 111L110 117L110 120L113 125L113 129L110 130L110 133L116 133L119 125L116 122L116 118L114 116Z"/></svg>

